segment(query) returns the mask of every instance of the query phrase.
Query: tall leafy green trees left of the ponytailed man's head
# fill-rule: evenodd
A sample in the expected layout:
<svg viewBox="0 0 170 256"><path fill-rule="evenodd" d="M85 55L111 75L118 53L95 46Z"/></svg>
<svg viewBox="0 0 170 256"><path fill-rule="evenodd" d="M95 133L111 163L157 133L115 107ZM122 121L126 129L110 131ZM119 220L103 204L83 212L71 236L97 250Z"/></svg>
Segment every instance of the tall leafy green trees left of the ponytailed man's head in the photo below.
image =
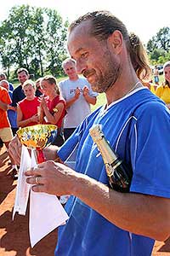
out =
<svg viewBox="0 0 170 256"><path fill-rule="evenodd" d="M68 21L56 10L29 5L13 7L0 26L0 57L9 73L11 67L26 67L35 77L60 74L66 56Z"/></svg>

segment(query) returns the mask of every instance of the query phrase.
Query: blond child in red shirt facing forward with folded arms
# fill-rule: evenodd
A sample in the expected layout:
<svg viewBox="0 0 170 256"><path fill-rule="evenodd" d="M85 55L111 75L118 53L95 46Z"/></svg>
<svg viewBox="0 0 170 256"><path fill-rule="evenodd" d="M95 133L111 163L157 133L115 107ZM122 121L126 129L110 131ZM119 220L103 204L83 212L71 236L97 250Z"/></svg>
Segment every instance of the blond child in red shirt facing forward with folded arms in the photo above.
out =
<svg viewBox="0 0 170 256"><path fill-rule="evenodd" d="M37 125L39 117L37 107L40 102L35 96L35 84L31 80L26 80L22 85L26 98L18 103L17 107L17 124L19 127Z"/></svg>

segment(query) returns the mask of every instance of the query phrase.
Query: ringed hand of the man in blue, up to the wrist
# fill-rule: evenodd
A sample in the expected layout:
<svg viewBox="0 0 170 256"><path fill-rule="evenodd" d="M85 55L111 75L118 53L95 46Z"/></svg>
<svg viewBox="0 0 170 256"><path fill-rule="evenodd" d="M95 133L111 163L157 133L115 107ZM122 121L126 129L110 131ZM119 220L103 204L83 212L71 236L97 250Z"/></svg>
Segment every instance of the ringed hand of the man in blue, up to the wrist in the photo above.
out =
<svg viewBox="0 0 170 256"><path fill-rule="evenodd" d="M77 172L71 168L48 160L25 172L26 182L32 184L34 192L51 195L70 195L76 182Z"/></svg>

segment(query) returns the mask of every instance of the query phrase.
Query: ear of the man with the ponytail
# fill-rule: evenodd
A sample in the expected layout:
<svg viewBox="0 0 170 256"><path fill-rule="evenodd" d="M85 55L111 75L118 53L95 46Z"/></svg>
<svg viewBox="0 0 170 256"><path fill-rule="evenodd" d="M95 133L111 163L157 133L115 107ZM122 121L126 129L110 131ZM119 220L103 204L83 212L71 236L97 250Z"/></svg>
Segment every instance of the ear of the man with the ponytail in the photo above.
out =
<svg viewBox="0 0 170 256"><path fill-rule="evenodd" d="M122 32L116 30L112 32L111 36L108 38L109 43L111 45L111 49L113 50L114 54L118 55L122 51L123 45L123 38Z"/></svg>

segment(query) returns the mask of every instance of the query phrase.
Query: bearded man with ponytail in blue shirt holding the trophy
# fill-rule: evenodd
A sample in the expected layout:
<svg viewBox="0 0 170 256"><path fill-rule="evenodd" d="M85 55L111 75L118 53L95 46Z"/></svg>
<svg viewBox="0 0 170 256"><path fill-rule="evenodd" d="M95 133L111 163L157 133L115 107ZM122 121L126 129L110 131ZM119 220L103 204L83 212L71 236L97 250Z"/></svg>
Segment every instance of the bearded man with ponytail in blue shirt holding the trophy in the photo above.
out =
<svg viewBox="0 0 170 256"><path fill-rule="evenodd" d="M149 256L155 239L164 241L170 234L170 114L141 83L150 67L139 38L110 12L88 13L73 22L68 49L77 72L94 91L105 92L107 103L57 152L63 162L75 153L74 170L48 160L26 172L33 191L71 195L65 206L70 218L59 228L55 255ZM96 124L132 169L127 193L109 187L104 161L89 135ZM15 147L18 140L11 144L17 158ZM56 150L44 150L46 158L56 159Z"/></svg>

